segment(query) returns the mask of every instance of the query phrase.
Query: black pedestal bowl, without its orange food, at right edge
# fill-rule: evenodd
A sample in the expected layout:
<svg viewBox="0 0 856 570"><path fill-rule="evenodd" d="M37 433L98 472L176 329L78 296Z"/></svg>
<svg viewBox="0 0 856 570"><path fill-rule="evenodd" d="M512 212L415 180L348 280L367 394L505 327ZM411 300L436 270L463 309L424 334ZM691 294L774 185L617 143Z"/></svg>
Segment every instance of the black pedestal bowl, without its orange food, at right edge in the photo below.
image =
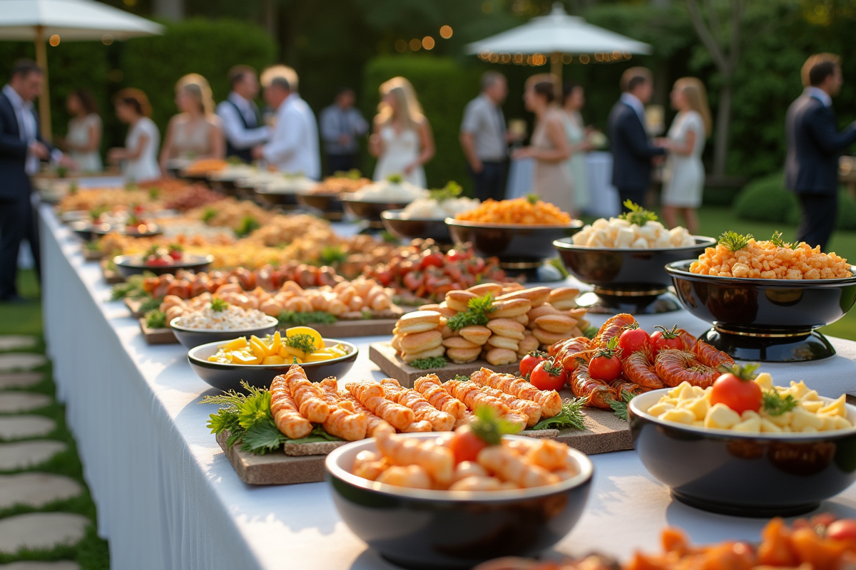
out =
<svg viewBox="0 0 856 570"><path fill-rule="evenodd" d="M841 319L856 303L856 273L845 279L742 279L690 273L692 263L669 263L665 270L684 308L713 324L703 338L717 349L758 361L835 354L815 329Z"/></svg>

